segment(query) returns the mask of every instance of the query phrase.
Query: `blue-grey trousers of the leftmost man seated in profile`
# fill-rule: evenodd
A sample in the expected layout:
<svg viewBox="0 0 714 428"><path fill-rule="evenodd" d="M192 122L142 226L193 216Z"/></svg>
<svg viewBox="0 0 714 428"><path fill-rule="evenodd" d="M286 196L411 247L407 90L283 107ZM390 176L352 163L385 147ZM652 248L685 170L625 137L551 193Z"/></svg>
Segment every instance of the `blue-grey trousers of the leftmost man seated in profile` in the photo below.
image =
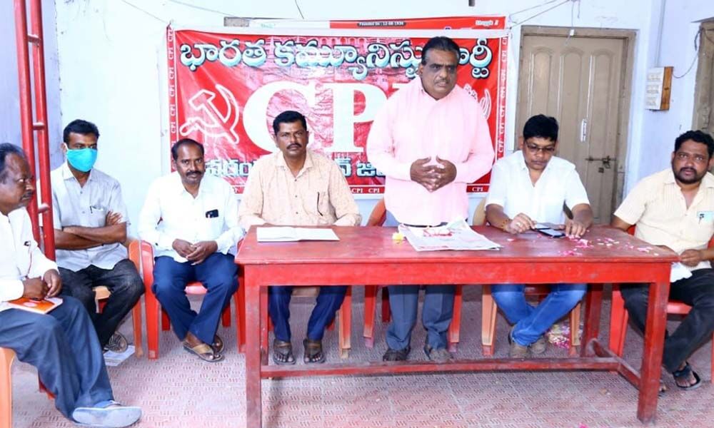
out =
<svg viewBox="0 0 714 428"><path fill-rule="evenodd" d="M114 399L99 340L82 304L69 296L49 312L0 312L0 347L34 365L54 405L71 419L77 407Z"/></svg>

